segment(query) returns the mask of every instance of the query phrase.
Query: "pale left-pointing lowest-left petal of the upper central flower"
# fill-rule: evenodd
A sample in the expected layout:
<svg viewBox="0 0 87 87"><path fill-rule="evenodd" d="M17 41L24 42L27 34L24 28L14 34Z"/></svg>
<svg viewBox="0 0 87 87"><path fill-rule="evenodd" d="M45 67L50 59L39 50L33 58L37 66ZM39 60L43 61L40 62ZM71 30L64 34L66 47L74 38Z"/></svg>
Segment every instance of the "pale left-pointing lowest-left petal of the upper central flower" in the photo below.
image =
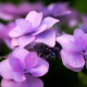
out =
<svg viewBox="0 0 87 87"><path fill-rule="evenodd" d="M20 28L18 26L16 26L15 28L13 28L10 33L9 33L9 36L10 37L18 37L18 36L22 36L22 35L25 35L27 34L27 30L22 30L24 28Z"/></svg>

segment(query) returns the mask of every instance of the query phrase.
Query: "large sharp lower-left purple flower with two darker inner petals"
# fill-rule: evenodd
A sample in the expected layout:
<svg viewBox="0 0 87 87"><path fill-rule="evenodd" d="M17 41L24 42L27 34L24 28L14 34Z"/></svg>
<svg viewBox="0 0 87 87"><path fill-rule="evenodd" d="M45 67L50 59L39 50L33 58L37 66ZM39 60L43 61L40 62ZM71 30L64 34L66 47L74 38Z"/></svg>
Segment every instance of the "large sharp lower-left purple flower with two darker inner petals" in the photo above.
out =
<svg viewBox="0 0 87 87"><path fill-rule="evenodd" d="M35 77L45 75L48 72L49 63L37 57L36 52L28 52L18 47L14 49L12 57L0 63L0 74L3 78L24 82L26 74Z"/></svg>

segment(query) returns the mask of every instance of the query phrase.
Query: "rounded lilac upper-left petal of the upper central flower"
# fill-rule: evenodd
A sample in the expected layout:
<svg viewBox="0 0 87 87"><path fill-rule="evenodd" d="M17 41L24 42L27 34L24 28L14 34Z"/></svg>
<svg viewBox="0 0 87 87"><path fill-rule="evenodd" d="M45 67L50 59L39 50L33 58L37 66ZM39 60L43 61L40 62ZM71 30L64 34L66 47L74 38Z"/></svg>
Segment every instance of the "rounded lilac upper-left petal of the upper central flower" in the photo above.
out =
<svg viewBox="0 0 87 87"><path fill-rule="evenodd" d="M27 33L33 32L32 24L24 18L18 18L15 21L15 23L21 28L21 30L16 30L16 32L27 32Z"/></svg>

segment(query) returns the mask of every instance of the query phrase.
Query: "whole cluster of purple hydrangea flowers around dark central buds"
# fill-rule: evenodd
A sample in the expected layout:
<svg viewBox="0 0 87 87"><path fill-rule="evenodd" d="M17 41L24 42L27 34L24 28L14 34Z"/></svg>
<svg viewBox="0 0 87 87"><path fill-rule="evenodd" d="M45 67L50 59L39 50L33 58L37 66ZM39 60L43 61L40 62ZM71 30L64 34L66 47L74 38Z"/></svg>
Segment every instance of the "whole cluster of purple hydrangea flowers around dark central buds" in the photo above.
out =
<svg viewBox="0 0 87 87"><path fill-rule="evenodd" d="M16 18L15 23L0 23L0 45L5 42L12 50L0 62L2 86L5 86L4 82L13 85L23 82L20 83L21 87L44 87L37 77L46 75L49 61L60 57L64 66L74 72L82 71L84 66L87 69L87 17L82 15L82 23L75 28L74 35L65 34L58 27L59 24L67 27L78 24L78 12L69 9L69 3L52 3L48 7L40 2L0 5L0 18ZM25 14L26 17L21 18Z"/></svg>

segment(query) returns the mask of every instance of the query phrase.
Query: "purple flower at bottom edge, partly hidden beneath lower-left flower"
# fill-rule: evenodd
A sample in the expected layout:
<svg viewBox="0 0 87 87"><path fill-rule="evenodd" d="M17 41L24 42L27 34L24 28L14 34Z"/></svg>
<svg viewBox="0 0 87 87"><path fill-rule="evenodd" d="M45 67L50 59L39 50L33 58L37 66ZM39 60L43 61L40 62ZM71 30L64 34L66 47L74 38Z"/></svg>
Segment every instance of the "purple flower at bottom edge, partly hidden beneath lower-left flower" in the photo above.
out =
<svg viewBox="0 0 87 87"><path fill-rule="evenodd" d="M44 87L44 83L40 78L36 78L27 74L24 82L14 82L11 79L2 78L1 87Z"/></svg>

